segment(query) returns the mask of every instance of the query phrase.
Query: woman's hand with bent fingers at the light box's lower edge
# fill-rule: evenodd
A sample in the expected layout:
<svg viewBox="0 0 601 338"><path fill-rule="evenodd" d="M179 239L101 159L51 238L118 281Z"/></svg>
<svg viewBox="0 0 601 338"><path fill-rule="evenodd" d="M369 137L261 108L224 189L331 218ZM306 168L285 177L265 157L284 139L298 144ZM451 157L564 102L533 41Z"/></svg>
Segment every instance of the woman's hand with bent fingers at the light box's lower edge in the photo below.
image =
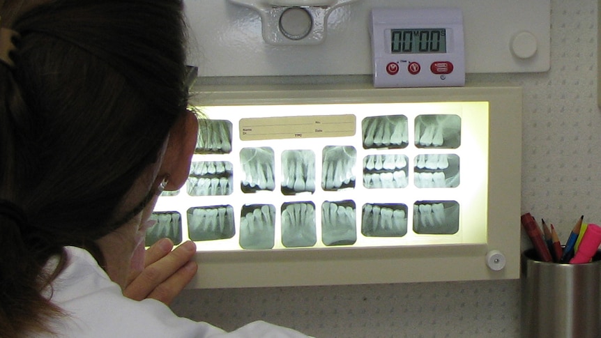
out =
<svg viewBox="0 0 601 338"><path fill-rule="evenodd" d="M190 261L196 253L194 242L185 242L176 249L163 238L146 250L144 270L132 271L123 295L133 300L153 298L166 305L188 285L198 270Z"/></svg>

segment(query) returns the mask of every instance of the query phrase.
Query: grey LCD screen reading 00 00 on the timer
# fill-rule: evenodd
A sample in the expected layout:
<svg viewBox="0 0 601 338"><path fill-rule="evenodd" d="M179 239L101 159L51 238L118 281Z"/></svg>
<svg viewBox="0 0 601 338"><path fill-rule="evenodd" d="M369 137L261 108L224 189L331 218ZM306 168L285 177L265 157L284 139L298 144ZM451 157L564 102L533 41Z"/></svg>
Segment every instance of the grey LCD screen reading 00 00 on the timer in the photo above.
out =
<svg viewBox="0 0 601 338"><path fill-rule="evenodd" d="M393 54L446 53L446 29L391 29Z"/></svg>

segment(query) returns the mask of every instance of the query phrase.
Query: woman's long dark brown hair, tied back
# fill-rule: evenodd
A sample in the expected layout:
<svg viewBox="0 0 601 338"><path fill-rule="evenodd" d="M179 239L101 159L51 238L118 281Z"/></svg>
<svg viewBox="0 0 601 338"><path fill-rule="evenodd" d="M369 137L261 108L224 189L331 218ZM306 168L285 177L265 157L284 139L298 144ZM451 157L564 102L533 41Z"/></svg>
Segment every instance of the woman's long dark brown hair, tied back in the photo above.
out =
<svg viewBox="0 0 601 338"><path fill-rule="evenodd" d="M49 332L47 260L102 259L93 241L187 105L180 0L38 2L0 8L20 34L0 64L0 199L26 217L0 213L0 337Z"/></svg>

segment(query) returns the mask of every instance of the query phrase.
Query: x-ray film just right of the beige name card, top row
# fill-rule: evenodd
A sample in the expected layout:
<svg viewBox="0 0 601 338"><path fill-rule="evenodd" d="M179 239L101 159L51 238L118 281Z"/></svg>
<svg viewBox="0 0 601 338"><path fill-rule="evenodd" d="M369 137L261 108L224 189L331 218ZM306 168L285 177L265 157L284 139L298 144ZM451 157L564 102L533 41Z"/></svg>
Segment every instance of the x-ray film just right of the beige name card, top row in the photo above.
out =
<svg viewBox="0 0 601 338"><path fill-rule="evenodd" d="M405 148L409 144L407 117L372 116L361 121L363 148Z"/></svg>

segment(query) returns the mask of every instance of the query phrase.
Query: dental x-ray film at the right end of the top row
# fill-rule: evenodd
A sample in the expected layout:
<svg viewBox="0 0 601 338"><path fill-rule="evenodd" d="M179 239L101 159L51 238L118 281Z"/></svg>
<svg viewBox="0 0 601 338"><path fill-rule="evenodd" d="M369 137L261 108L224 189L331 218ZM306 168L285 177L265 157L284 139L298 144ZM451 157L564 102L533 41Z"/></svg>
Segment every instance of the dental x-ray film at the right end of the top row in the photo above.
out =
<svg viewBox="0 0 601 338"><path fill-rule="evenodd" d="M461 145L461 118L457 115L416 117L418 148L458 148Z"/></svg>

